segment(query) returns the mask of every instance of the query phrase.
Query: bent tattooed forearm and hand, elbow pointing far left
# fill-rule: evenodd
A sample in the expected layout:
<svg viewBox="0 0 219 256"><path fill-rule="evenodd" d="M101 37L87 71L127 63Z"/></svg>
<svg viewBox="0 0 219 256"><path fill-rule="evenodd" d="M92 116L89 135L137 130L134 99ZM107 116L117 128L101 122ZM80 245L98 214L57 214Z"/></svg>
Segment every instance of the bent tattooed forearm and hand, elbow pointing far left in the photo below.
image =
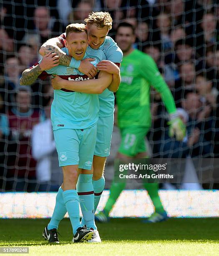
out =
<svg viewBox="0 0 219 256"><path fill-rule="evenodd" d="M45 56L43 56L40 64L33 68L31 67L29 69L25 69L25 71L22 73L22 76L20 77L20 85L33 84L33 82L35 82L35 80L44 70L56 67L58 66L58 64L59 56L57 56L55 53L46 54Z"/></svg>

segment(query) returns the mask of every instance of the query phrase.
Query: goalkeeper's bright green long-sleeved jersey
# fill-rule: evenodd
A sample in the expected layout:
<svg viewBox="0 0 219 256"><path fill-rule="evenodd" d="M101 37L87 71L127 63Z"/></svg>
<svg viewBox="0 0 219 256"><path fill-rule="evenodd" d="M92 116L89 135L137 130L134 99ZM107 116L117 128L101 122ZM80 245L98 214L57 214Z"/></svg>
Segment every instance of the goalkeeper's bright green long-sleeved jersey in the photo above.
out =
<svg viewBox="0 0 219 256"><path fill-rule="evenodd" d="M176 111L173 96L161 76L156 63L148 54L133 50L123 56L121 84L116 92L118 126L151 126L150 90L153 86L161 94L168 113Z"/></svg>

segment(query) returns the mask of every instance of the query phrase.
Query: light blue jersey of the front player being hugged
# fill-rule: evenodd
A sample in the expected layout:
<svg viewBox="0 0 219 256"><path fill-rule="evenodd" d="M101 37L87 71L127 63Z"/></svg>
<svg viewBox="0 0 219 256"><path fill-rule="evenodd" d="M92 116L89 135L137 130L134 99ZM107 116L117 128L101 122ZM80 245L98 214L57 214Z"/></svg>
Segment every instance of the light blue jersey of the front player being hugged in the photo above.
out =
<svg viewBox="0 0 219 256"><path fill-rule="evenodd" d="M62 50L68 54L67 48ZM83 59L95 58L93 64L106 59L101 50L93 50L88 46ZM58 65L46 70L47 74L57 74L66 80L83 81L89 79L78 69ZM66 129L86 129L95 125L98 121L99 100L96 94L86 94L73 92L65 89L54 90L54 100L51 106L51 121L53 130Z"/></svg>

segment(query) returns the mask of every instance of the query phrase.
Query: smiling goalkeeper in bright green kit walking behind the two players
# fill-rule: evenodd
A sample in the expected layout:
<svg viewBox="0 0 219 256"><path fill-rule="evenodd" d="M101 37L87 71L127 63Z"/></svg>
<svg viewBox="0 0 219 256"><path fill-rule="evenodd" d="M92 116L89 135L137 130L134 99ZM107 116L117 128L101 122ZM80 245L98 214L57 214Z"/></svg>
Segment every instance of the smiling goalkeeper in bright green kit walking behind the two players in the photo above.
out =
<svg viewBox="0 0 219 256"><path fill-rule="evenodd" d="M120 69L121 84L116 92L118 127L121 133L117 158L126 161L133 158L146 158L147 149L144 138L151 126L151 86L161 94L170 115L170 136L175 136L176 140L182 140L186 134L186 128L176 114L173 96L154 60L149 55L133 49L135 33L131 24L120 23L118 25L116 42L123 51ZM158 194L158 184L144 183L143 186L151 197L155 208L155 212L145 222L155 223L166 220L168 217ZM106 206L103 211L95 215L97 221L108 221L109 212L125 187L125 180L120 183L113 182Z"/></svg>

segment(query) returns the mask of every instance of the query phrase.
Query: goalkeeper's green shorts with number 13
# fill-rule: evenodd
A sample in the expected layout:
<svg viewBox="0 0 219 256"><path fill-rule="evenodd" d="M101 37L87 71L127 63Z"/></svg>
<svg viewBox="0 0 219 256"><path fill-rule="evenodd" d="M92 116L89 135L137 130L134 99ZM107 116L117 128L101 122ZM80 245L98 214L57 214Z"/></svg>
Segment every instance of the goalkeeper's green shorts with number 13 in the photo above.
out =
<svg viewBox="0 0 219 256"><path fill-rule="evenodd" d="M130 157L146 152L145 136L148 131L149 128L139 126L120 128L121 144L118 152Z"/></svg>

